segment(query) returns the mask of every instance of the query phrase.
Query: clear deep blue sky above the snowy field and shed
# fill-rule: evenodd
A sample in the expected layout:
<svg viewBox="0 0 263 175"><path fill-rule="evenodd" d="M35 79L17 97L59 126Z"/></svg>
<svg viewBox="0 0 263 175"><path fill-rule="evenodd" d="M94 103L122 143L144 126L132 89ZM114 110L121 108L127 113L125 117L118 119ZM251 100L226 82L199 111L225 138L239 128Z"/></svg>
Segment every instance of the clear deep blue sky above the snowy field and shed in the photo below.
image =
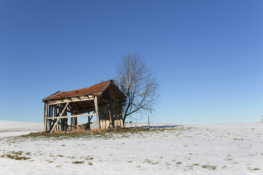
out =
<svg viewBox="0 0 263 175"><path fill-rule="evenodd" d="M0 1L0 120L115 76L139 51L161 82L152 122L259 122L263 1ZM147 119L141 122L148 122Z"/></svg>

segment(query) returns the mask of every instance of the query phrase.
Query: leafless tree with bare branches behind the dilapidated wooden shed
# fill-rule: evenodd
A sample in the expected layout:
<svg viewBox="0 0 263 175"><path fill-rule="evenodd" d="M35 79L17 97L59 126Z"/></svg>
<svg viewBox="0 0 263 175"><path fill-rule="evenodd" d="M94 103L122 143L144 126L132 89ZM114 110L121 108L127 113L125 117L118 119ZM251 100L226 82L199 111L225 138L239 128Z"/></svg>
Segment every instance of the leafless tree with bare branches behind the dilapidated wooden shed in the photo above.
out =
<svg viewBox="0 0 263 175"><path fill-rule="evenodd" d="M116 63L114 83L125 95L122 100L123 121L137 120L138 116L155 112L161 96L156 71L146 64L139 52L128 52ZM135 115L131 115L131 114Z"/></svg>

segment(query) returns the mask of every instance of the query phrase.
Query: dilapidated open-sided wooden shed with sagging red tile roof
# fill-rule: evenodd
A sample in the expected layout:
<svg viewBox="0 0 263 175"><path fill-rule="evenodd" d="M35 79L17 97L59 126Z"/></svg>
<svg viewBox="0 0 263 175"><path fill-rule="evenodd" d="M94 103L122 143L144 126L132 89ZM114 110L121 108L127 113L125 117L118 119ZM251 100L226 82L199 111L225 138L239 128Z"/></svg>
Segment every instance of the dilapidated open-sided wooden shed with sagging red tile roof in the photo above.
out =
<svg viewBox="0 0 263 175"><path fill-rule="evenodd" d="M122 108L120 101L124 95L113 84L113 80L105 81L89 88L56 92L43 99L44 131L72 130L79 127L90 129L91 123L97 123L97 128L123 127ZM88 117L88 122L78 125L78 117ZM93 116L96 121L91 122ZM70 118L70 124L68 119Z"/></svg>

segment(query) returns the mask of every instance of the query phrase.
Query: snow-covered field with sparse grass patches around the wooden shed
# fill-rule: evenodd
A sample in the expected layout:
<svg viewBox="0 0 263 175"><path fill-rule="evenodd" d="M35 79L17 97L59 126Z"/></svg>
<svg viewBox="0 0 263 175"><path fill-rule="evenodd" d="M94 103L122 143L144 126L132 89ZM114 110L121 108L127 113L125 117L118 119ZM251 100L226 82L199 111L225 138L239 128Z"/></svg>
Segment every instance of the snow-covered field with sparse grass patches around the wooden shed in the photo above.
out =
<svg viewBox="0 0 263 175"><path fill-rule="evenodd" d="M43 125L11 124L0 121L0 174L263 173L263 123L87 132L74 137L20 137L29 125L39 131ZM26 160L15 160L19 157Z"/></svg>

